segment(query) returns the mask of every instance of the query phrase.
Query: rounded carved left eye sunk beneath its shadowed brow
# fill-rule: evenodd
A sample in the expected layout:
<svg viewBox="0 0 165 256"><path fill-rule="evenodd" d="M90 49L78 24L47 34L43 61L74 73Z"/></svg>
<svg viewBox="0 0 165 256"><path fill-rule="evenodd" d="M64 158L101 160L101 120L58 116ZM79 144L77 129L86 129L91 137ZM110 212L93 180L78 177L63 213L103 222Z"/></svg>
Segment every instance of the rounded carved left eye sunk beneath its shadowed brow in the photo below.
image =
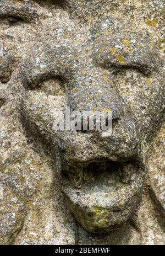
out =
<svg viewBox="0 0 165 256"><path fill-rule="evenodd" d="M47 95L63 96L65 94L65 83L61 78L47 79L40 82L36 90Z"/></svg>

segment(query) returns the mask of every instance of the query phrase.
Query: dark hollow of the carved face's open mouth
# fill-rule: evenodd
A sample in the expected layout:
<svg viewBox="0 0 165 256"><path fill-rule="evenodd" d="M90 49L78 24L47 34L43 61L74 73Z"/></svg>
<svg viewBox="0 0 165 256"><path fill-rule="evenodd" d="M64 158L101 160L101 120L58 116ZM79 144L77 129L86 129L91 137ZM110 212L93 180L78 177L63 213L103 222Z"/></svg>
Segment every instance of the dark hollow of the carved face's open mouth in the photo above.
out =
<svg viewBox="0 0 165 256"><path fill-rule="evenodd" d="M138 178L139 164L133 161L114 162L106 158L63 170L64 185L75 190L111 193Z"/></svg>

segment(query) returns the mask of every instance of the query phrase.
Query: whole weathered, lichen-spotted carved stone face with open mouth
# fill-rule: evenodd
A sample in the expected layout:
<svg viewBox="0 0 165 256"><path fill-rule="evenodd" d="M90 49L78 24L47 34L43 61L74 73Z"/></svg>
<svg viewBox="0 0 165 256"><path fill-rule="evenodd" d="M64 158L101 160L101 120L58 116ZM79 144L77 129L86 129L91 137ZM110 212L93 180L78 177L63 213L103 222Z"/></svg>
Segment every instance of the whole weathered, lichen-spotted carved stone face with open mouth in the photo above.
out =
<svg viewBox="0 0 165 256"><path fill-rule="evenodd" d="M89 232L109 232L129 219L138 201L142 152L163 113L154 33L106 12L83 26L57 10L36 27L20 67L26 130L51 153L75 218ZM52 131L55 111L65 106L112 110L112 136Z"/></svg>

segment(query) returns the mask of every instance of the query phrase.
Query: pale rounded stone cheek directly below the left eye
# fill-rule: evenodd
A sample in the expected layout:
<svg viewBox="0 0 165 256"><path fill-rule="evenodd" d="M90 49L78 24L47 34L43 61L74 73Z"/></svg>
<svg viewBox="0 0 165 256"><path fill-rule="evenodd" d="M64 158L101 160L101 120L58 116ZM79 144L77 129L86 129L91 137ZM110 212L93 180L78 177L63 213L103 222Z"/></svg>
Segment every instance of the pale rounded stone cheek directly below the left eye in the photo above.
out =
<svg viewBox="0 0 165 256"><path fill-rule="evenodd" d="M32 130L51 132L57 111L64 111L67 100L64 96L46 95L43 92L29 91L23 99L25 122Z"/></svg>

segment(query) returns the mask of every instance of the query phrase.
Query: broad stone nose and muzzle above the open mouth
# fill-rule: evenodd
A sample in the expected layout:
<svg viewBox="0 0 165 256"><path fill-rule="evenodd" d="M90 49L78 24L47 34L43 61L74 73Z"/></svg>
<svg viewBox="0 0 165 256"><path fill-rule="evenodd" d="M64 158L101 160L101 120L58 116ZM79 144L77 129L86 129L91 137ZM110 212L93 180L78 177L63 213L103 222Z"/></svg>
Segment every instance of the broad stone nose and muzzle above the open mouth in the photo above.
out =
<svg viewBox="0 0 165 256"><path fill-rule="evenodd" d="M84 132L83 125L79 131L66 132L61 137L61 148L72 166L101 158L128 161L138 154L137 121L113 84L102 79L100 70L96 71L86 76L76 76L74 81L70 81L68 106L70 111L112 111L112 134L104 136L101 129L90 131L89 127ZM72 151L68 152L68 148L72 148Z"/></svg>

